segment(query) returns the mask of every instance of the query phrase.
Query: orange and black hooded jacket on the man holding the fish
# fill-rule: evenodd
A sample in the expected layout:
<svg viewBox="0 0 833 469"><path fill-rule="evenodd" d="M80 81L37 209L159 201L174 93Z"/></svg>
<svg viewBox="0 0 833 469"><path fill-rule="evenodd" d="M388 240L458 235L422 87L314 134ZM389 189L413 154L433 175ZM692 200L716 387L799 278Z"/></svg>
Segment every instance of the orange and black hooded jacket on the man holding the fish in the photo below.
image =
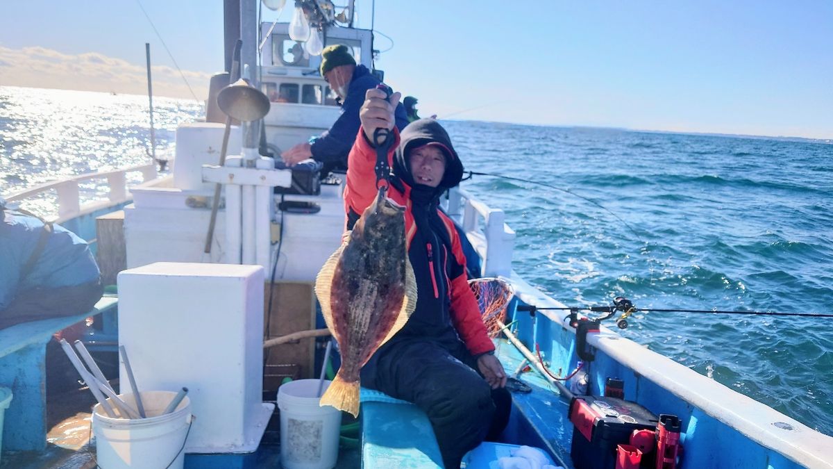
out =
<svg viewBox="0 0 833 469"><path fill-rule="evenodd" d="M439 340L456 334L472 356L494 350L480 316L477 300L466 276L466 256L453 222L438 208L440 194L460 184L463 166L446 131L434 119L409 124L400 136L394 129L395 144L388 153L392 167L388 197L406 206L405 229L419 297L416 310L392 341L408 337ZM438 142L446 151L446 172L440 186L415 184L407 154L424 144ZM450 158L449 158L450 157ZM377 195L376 149L362 129L347 162L344 204L347 229L352 229L364 209Z"/></svg>

